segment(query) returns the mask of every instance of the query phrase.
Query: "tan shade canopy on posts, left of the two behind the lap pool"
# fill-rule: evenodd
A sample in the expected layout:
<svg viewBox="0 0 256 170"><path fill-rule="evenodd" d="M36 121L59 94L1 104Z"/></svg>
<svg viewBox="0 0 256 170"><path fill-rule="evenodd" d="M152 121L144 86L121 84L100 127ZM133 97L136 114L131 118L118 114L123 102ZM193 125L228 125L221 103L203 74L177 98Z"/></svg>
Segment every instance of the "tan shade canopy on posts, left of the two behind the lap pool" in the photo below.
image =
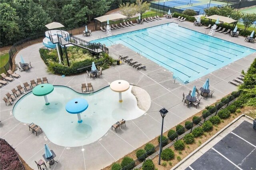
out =
<svg viewBox="0 0 256 170"><path fill-rule="evenodd" d="M110 14L110 15L104 15L100 16L98 18L94 18L94 26L95 29L97 29L98 25L102 26L103 24L107 24L107 20L119 20L119 22L122 22L123 18L128 18L127 16L124 16L122 14Z"/></svg>

